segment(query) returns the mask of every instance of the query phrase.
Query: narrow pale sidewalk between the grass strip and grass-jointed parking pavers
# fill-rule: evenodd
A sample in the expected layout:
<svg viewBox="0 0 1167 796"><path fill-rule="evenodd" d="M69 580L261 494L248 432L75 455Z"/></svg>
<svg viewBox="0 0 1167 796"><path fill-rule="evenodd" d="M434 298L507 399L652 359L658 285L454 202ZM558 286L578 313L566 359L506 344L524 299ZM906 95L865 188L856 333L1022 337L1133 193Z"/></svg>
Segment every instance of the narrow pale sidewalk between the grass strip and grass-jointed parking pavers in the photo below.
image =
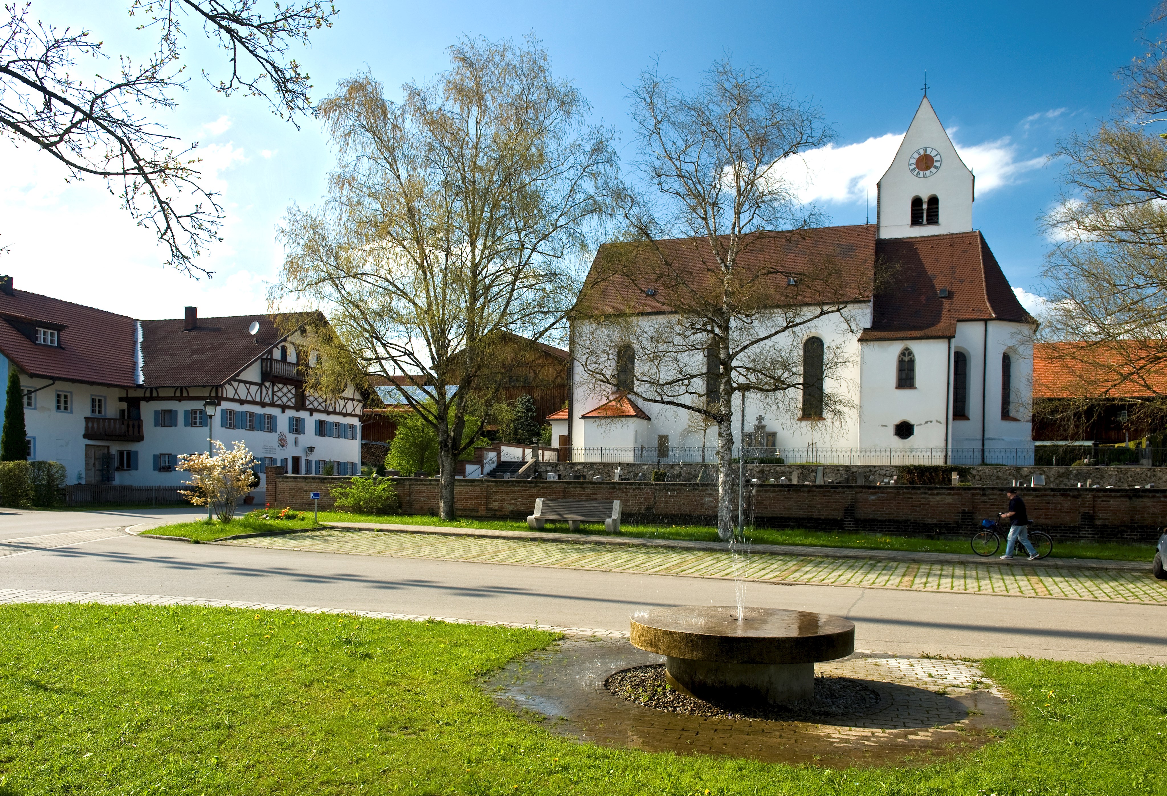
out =
<svg viewBox="0 0 1167 796"><path fill-rule="evenodd" d="M691 542L686 539L641 539L627 536L603 536L589 533L552 533L547 531L492 531L476 528L445 528L436 525L394 525L391 523L324 523L327 528L354 531L392 531L397 533L428 533L434 536L467 536L482 539L525 539L531 542L558 542L565 544L599 544L627 547L664 547L669 550L711 550L732 552L727 542ZM1004 545L1004 543L1002 543ZM1002 546L1004 550L1004 546ZM1055 546L1056 552L1056 546ZM1147 545L1146 561L1110 561L1097 558L1055 558L1030 561L1019 556L1005 561L997 556L984 558L974 553L925 553L903 550L866 550L854 547L815 547L810 545L763 545L749 546L749 553L774 556L808 556L813 558L847 558L876 561L911 561L918 564L967 564L990 566L1072 567L1075 570L1123 570L1151 572L1154 551Z"/></svg>

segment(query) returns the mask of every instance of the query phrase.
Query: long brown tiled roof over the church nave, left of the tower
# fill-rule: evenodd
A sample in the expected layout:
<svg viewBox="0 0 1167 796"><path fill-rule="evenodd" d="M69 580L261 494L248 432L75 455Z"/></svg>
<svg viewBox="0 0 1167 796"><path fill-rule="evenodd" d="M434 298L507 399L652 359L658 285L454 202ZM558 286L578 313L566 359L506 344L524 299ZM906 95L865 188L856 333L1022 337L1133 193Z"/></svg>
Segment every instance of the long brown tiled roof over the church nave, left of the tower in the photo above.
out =
<svg viewBox="0 0 1167 796"><path fill-rule="evenodd" d="M740 272L764 274L750 288L763 296L763 306L866 300L872 289L875 230L874 224L858 224L754 233L742 244ZM787 284L789 275L816 272L829 273L831 278L824 280L829 284ZM720 266L705 238L659 240L656 247L605 244L592 261L579 309L600 315L675 312L672 302L690 305L678 298L683 289L713 287L720 279Z"/></svg>

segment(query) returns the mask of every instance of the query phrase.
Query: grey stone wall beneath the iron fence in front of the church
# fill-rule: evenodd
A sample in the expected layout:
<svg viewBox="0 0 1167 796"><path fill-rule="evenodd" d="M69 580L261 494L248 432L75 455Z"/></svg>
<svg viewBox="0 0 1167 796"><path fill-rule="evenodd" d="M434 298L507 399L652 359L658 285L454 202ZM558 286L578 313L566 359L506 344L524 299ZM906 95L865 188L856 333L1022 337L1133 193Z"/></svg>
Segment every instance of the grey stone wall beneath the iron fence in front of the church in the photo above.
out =
<svg viewBox="0 0 1167 796"><path fill-rule="evenodd" d="M537 465L539 476L554 473L560 479L578 476L592 481L596 476L605 481L615 479L619 467L622 481L636 481L643 477L649 481L652 470L664 470L669 482L696 481L713 483L717 481L717 466L708 465L598 465L592 462L546 462ZM1047 487L1167 487L1167 467L1007 467L985 466L962 468L967 473L967 481L974 487L1008 487L1015 480L1030 483L1034 475L1046 476ZM767 481L785 479L789 483L813 483L818 467L812 465L747 465L746 477ZM736 469L734 470L736 475ZM899 476L900 468L895 465L823 465L824 483L875 484L886 479Z"/></svg>

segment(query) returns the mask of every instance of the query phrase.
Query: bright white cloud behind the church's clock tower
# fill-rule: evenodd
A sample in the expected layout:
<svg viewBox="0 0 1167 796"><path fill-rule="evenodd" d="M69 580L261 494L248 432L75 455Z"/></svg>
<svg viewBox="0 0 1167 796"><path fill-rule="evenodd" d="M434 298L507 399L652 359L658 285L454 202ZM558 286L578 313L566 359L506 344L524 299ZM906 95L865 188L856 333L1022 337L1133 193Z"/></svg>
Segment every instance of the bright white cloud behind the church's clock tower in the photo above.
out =
<svg viewBox="0 0 1167 796"><path fill-rule="evenodd" d="M949 132L955 133L956 128ZM788 159L777 174L790 183L802 202L858 204L869 200L874 203L875 183L887 172L902 140L903 133L888 133L845 146L827 144ZM969 146L955 139L952 142L977 175L978 196L1012 184L1026 172L1046 163L1043 156L1020 159L1016 145L1008 137Z"/></svg>

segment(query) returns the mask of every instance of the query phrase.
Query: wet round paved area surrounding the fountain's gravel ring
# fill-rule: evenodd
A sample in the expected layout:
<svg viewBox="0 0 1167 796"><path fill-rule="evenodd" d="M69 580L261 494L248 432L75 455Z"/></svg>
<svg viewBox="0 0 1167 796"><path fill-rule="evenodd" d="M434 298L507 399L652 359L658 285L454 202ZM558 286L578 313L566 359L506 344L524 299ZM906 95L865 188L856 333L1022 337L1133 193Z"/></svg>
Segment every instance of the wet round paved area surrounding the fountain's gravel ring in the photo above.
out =
<svg viewBox="0 0 1167 796"><path fill-rule="evenodd" d="M616 671L663 661L624 640L568 638L511 663L485 689L523 718L584 742L834 768L931 762L979 748L1013 725L1005 694L963 661L857 652L817 664L817 673L862 680L880 697L871 711L817 722L658 711L603 685Z"/></svg>

